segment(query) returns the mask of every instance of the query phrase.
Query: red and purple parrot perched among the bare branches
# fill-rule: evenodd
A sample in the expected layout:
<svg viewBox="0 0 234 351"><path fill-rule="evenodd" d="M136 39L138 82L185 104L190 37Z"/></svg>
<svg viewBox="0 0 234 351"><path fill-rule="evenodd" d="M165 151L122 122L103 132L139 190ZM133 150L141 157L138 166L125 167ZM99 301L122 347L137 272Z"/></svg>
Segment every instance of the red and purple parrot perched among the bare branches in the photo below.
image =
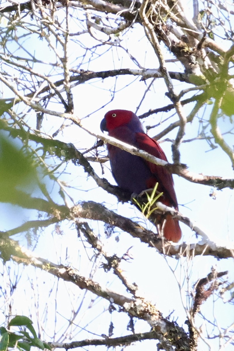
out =
<svg viewBox="0 0 234 351"><path fill-rule="evenodd" d="M143 131L140 119L131 111L112 110L107 112L101 121L100 128L102 132L107 131L111 137L167 161L166 155L159 144L148 137ZM159 201L178 210L172 175L166 168L148 162L111 144L107 144L107 148L112 174L120 188L131 193L140 194L144 190L154 188L158 182L157 190L163 192ZM167 240L172 240L175 243L181 238L179 222L173 219L171 214L166 215L163 235Z"/></svg>

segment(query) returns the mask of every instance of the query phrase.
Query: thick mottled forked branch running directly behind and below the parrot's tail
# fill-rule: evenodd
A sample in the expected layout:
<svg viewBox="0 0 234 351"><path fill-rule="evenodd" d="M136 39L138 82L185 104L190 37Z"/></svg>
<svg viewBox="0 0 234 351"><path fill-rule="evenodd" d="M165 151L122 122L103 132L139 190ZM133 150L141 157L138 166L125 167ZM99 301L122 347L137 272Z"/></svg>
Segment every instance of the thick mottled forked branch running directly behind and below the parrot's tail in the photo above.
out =
<svg viewBox="0 0 234 351"><path fill-rule="evenodd" d="M173 208L167 207L161 203L157 203L161 211L176 212ZM108 210L105 206L95 203L93 201L83 202L71 208L72 216L74 218L85 218L100 220L109 225L119 227L121 230L128 232L135 238L139 238L142 242L147 243L149 246L154 247L160 253L166 253L167 256L215 256L218 258L233 257L234 247L230 243L227 246L218 246L212 241L209 241L208 236L187 217L182 217L180 214L175 215L176 218L188 225L191 230L200 234L203 238L201 243L189 244L182 243L181 245L172 245L171 243L163 242L160 237L152 231L146 230L138 223L129 218L120 216L115 212ZM161 212L161 213L162 213ZM229 245L229 246L228 246Z"/></svg>

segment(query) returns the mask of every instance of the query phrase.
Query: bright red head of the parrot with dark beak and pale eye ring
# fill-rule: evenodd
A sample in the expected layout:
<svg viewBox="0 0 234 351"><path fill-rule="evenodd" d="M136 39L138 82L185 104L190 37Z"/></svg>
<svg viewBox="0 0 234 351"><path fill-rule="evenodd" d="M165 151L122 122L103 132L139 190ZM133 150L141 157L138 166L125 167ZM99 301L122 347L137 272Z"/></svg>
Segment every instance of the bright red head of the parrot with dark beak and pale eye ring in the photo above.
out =
<svg viewBox="0 0 234 351"><path fill-rule="evenodd" d="M111 110L105 114L101 121L100 128L103 131L111 132L113 129L129 123L133 118L139 118L132 111Z"/></svg>

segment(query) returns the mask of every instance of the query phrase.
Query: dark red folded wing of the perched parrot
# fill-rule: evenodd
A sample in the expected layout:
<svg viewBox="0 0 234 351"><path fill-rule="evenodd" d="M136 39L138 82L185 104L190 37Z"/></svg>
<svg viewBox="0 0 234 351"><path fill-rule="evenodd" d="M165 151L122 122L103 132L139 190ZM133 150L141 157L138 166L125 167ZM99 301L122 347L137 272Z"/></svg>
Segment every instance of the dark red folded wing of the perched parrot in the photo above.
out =
<svg viewBox="0 0 234 351"><path fill-rule="evenodd" d="M154 139L150 138L147 134L136 133L136 141L140 149L148 152L155 157L160 158L161 160L167 161L166 155L159 144ZM155 176L156 181L159 183L159 191L163 191L165 199L169 201L169 203L166 203L166 205L174 206L176 209L178 209L178 203L171 173L169 173L166 168L162 166L155 165L148 161L146 161L146 163Z"/></svg>

